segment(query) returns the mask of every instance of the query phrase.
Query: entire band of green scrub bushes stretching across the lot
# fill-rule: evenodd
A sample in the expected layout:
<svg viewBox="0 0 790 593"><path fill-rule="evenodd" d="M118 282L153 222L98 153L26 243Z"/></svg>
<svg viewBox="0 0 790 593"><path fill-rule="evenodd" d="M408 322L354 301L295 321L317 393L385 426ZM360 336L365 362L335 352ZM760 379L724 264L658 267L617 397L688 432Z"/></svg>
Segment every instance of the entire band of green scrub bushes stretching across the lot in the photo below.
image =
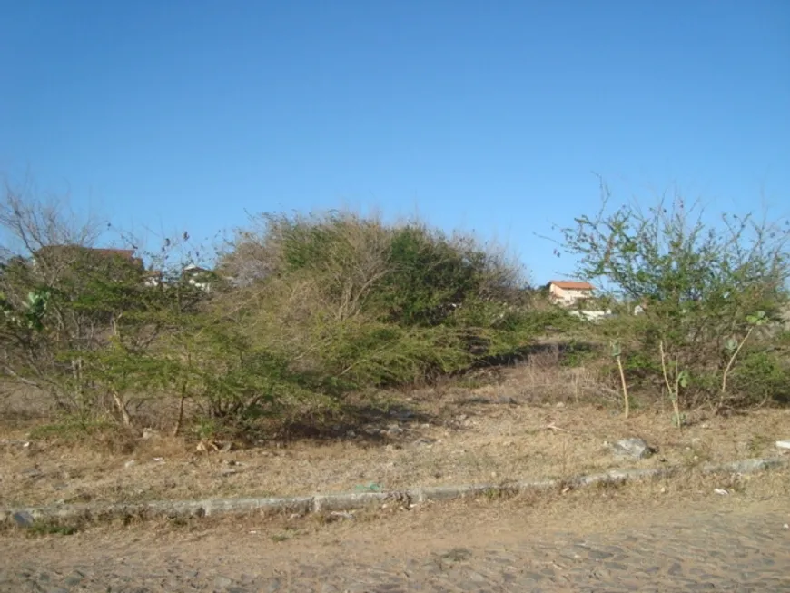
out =
<svg viewBox="0 0 790 593"><path fill-rule="evenodd" d="M557 368L595 378L586 398L622 407L625 386L643 407L671 401L677 428L695 410L786 406L787 222L708 218L680 198L612 208L604 197L558 229L576 275L614 313L589 322L552 304L506 252L426 222L263 213L203 252L211 271L196 276L183 270L203 250L186 233L146 252L117 232L133 257L84 249L107 247L114 228L9 188L6 420L41 435L296 438L347 429L382 390L460 384L547 343ZM557 368L547 372L565 376Z"/></svg>

